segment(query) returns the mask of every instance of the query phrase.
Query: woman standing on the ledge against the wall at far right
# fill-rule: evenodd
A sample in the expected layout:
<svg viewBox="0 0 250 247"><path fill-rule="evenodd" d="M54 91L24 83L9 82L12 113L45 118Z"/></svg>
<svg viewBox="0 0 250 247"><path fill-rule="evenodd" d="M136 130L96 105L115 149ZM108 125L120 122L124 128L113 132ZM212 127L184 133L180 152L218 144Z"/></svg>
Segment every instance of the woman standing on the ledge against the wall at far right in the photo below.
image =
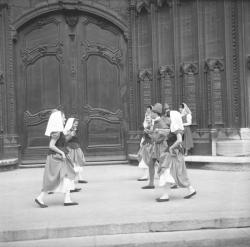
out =
<svg viewBox="0 0 250 247"><path fill-rule="evenodd" d="M184 125L183 147L185 149L185 155L188 155L188 151L194 147L190 129L190 125L192 124L192 112L185 103L180 104L179 111Z"/></svg>

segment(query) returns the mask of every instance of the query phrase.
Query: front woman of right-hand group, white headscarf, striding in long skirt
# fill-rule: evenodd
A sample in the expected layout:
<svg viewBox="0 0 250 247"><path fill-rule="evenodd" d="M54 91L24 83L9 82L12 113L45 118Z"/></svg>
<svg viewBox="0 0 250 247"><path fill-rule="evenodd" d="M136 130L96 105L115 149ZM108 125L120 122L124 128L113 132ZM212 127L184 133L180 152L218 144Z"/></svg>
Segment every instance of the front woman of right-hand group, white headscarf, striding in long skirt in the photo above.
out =
<svg viewBox="0 0 250 247"><path fill-rule="evenodd" d="M164 188L164 194L157 198L156 201L169 201L168 189L171 184L177 184L179 187L187 188L189 199L196 194L195 189L191 186L187 176L187 169L184 161L182 134L184 131L181 114L178 111L169 111L170 115L170 133L167 143L168 150L162 155L159 169L159 186Z"/></svg>

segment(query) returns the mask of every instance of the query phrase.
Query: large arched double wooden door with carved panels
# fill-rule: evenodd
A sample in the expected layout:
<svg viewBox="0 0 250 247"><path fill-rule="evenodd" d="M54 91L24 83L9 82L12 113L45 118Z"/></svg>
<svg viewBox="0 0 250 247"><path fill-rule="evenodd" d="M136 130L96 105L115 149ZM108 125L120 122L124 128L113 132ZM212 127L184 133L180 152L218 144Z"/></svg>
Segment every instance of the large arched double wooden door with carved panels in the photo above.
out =
<svg viewBox="0 0 250 247"><path fill-rule="evenodd" d="M18 131L24 160L44 160L51 109L80 119L89 160L125 159L126 42L107 21L79 13L40 17L16 45Z"/></svg>

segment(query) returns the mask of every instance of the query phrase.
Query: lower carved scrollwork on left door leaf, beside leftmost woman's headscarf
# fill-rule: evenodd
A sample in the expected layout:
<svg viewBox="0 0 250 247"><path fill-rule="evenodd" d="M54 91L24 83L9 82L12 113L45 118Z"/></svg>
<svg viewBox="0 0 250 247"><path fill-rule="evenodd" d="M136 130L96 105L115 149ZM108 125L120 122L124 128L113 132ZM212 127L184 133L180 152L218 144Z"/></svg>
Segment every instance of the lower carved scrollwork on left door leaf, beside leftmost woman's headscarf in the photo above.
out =
<svg viewBox="0 0 250 247"><path fill-rule="evenodd" d="M23 117L25 126L35 126L48 121L52 111L53 109L47 109L35 114L32 114L29 111L25 111Z"/></svg>

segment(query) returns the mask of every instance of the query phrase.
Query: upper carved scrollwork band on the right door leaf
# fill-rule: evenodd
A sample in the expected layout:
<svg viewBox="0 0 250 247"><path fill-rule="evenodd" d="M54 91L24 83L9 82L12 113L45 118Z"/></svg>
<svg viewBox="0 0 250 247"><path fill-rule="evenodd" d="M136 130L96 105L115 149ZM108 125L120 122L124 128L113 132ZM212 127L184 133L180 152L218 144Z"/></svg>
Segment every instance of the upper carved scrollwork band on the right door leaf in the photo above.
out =
<svg viewBox="0 0 250 247"><path fill-rule="evenodd" d="M90 43L85 41L81 43L82 60L87 60L91 55L99 55L108 59L112 64L119 65L122 59L122 51L120 49L110 49L103 44Z"/></svg>

